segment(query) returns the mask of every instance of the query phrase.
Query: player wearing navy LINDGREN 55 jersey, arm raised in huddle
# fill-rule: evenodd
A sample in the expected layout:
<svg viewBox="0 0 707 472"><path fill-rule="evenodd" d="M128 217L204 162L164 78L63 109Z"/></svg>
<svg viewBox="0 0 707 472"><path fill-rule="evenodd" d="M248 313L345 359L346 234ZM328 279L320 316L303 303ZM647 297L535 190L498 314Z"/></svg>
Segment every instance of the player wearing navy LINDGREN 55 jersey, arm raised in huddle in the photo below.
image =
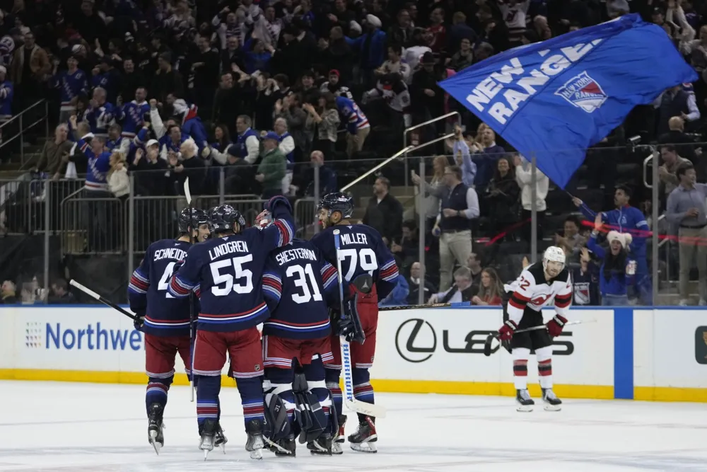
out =
<svg viewBox="0 0 707 472"><path fill-rule="evenodd" d="M257 325L269 311L259 283L269 253L289 243L294 233L292 209L285 197L272 197L266 207L275 221L262 231L245 229L245 220L230 205L211 212L211 238L189 249L170 280L169 291L175 297L187 297L195 287L201 294L192 372L198 377L199 449L205 455L214 449L214 436L221 432L218 393L228 352L243 403L245 449L252 459L262 458L263 360Z"/></svg>

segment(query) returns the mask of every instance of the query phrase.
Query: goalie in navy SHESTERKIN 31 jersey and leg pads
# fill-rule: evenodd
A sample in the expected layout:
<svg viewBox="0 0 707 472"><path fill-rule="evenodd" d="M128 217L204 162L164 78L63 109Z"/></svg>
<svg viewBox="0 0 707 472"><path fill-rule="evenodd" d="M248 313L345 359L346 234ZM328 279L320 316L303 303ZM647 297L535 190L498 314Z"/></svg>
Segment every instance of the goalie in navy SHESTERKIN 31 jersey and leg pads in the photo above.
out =
<svg viewBox="0 0 707 472"><path fill-rule="evenodd" d="M256 226L271 221L262 212ZM334 359L327 303L339 301L337 270L310 241L293 239L270 253L262 282L270 311L263 326L265 439L276 455L294 455L298 434L313 454L331 455L339 428L324 362ZM294 362L302 372L295 373Z"/></svg>

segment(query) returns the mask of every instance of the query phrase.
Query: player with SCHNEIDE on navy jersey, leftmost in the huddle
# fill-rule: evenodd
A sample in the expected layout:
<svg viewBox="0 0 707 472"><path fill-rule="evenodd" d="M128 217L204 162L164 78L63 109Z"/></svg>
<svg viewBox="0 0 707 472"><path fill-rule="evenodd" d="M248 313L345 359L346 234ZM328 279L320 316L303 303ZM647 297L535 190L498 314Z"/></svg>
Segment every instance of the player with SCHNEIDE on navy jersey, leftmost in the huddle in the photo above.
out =
<svg viewBox="0 0 707 472"><path fill-rule="evenodd" d="M130 309L140 317L136 328L145 333L145 370L148 376L145 403L148 440L159 454L164 445L163 414L167 393L175 376L175 356L179 353L187 376L191 376L189 343L189 300L175 299L168 293L168 282L175 265L185 258L189 233L197 242L209 235L206 213L200 209L182 210L180 236L160 239L148 246L145 258L136 268L128 285ZM198 312L198 302L195 303Z"/></svg>

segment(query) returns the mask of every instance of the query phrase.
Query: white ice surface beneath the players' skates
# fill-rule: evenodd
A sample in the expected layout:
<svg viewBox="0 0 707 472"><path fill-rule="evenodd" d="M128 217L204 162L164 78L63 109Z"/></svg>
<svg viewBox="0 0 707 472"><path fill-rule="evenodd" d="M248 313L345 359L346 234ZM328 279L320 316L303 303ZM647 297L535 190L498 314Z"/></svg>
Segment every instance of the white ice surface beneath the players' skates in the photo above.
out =
<svg viewBox="0 0 707 472"><path fill-rule="evenodd" d="M253 461L243 449L235 388L221 391L226 454L204 462L195 404L173 387L165 447L147 442L144 386L0 381L0 471L474 472L706 471L707 408L699 403L565 401L517 413L513 398L377 394L378 454ZM537 401L537 399L536 399ZM349 413L346 433L355 430Z"/></svg>

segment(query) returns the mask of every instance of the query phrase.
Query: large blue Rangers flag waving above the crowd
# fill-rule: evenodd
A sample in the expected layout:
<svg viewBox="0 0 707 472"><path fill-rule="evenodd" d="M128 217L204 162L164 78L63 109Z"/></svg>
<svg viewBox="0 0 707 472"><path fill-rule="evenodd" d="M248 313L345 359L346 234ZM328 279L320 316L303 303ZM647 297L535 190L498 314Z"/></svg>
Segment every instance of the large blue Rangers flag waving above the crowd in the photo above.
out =
<svg viewBox="0 0 707 472"><path fill-rule="evenodd" d="M637 14L516 47L440 83L561 188L636 105L697 80Z"/></svg>

